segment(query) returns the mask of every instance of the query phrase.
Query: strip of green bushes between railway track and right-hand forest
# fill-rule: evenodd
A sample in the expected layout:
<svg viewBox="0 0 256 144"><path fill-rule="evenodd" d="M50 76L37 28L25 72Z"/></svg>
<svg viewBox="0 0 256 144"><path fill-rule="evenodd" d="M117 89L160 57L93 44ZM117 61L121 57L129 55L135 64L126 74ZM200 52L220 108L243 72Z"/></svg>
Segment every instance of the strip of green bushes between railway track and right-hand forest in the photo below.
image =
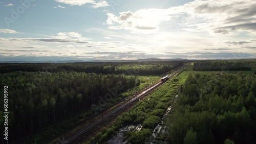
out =
<svg viewBox="0 0 256 144"><path fill-rule="evenodd" d="M174 78L164 83L156 92L151 93L144 101L140 101L133 106L129 112L124 112L110 128L103 127L103 131L98 132L95 137L91 137L85 143L106 143L115 136L120 128L125 126L141 125L140 131L124 132L123 141L127 143L145 143L149 141L154 128L161 122L166 109L173 102L175 95L180 90L179 79ZM162 136L165 139L166 136Z"/></svg>

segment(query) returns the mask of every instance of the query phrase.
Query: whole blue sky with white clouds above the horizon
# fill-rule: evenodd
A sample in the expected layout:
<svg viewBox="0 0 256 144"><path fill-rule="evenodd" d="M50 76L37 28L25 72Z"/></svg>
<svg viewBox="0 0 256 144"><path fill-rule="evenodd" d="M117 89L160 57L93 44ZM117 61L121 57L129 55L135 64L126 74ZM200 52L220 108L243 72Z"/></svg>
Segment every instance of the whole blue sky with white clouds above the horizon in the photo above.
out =
<svg viewBox="0 0 256 144"><path fill-rule="evenodd" d="M255 0L0 0L0 61L256 58Z"/></svg>

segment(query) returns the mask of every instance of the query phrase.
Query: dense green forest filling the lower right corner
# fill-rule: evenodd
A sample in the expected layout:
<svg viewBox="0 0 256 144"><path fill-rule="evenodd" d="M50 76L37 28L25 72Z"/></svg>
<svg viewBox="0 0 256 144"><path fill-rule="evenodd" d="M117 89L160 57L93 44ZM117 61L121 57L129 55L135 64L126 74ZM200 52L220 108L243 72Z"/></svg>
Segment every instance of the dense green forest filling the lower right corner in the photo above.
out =
<svg viewBox="0 0 256 144"><path fill-rule="evenodd" d="M168 117L171 143L256 143L256 75L189 75Z"/></svg>

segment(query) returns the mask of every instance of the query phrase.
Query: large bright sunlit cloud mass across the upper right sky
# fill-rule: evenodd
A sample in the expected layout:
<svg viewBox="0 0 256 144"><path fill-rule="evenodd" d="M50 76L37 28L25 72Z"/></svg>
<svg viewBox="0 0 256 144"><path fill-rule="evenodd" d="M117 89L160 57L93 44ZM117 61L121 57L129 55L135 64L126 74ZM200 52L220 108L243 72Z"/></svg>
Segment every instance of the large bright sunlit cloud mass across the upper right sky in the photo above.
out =
<svg viewBox="0 0 256 144"><path fill-rule="evenodd" d="M106 25L113 30L157 30L164 21L175 29L206 31L212 36L256 31L256 1L208 0L168 9L141 9L136 12L107 13Z"/></svg>

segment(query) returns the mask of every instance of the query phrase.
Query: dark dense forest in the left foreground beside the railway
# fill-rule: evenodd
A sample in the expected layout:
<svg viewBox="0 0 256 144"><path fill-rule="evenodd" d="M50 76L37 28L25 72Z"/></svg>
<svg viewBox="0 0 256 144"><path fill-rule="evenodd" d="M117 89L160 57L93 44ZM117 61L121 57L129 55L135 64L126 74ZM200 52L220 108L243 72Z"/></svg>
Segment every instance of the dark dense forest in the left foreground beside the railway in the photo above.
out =
<svg viewBox="0 0 256 144"><path fill-rule="evenodd" d="M139 85L140 81L137 76L121 74L16 71L0 74L0 84L1 87L9 88L10 139L17 140L60 119L88 110L92 104L98 105L100 98L104 99L106 93L112 92L110 89L117 91L113 90L113 94L109 94L105 101ZM121 88L117 88L116 84ZM122 98L120 95L118 97L117 100ZM0 99L4 101L3 97ZM0 107L3 105L1 103ZM0 115L3 118L3 111L0 111ZM3 126L1 124L1 129Z"/></svg>

